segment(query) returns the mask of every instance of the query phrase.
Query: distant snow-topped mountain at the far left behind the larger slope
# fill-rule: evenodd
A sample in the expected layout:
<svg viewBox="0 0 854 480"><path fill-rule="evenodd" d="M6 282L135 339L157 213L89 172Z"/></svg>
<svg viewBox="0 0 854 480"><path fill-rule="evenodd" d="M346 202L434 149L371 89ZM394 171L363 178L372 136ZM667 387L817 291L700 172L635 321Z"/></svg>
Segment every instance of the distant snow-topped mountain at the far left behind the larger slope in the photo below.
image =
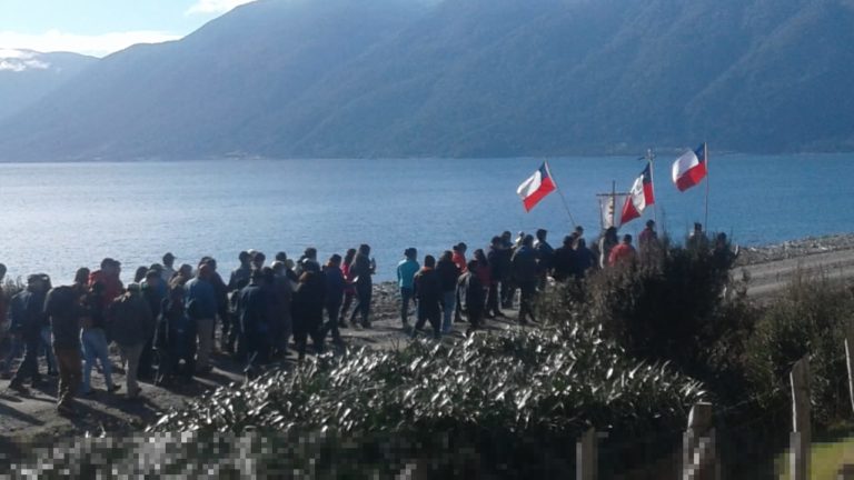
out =
<svg viewBox="0 0 854 480"><path fill-rule="evenodd" d="M77 53L0 49L0 119L34 103L97 60Z"/></svg>

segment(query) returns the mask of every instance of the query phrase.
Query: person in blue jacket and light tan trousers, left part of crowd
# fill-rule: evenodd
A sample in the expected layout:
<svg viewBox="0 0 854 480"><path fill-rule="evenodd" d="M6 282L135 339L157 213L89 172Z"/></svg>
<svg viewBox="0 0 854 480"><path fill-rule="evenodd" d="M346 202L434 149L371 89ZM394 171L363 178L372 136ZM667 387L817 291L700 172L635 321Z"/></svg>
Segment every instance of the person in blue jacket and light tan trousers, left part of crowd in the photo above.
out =
<svg viewBox="0 0 854 480"><path fill-rule="evenodd" d="M183 286L183 304L187 313L196 323L199 347L196 354L196 371L208 373L211 370L210 351L214 348L214 322L217 317L217 292L210 278L214 270L208 263L199 266L196 278ZM192 309L190 309L192 302Z"/></svg>

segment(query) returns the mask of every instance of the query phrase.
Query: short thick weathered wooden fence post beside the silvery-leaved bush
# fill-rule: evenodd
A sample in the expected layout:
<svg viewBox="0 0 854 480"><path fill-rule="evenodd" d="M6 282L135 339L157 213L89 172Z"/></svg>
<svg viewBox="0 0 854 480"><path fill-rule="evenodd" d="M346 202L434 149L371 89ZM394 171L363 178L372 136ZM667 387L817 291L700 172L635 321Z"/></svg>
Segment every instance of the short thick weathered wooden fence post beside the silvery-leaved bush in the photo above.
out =
<svg viewBox="0 0 854 480"><path fill-rule="evenodd" d="M716 480L717 476L712 403L695 403L688 414L688 428L682 442L682 478Z"/></svg>

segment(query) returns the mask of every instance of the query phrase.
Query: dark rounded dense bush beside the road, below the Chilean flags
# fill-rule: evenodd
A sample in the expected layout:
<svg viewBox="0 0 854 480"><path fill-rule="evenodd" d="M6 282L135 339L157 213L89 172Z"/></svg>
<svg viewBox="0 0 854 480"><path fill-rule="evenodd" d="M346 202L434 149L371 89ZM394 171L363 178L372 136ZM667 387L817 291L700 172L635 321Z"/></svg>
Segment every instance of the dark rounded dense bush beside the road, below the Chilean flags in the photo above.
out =
<svg viewBox="0 0 854 480"><path fill-rule="evenodd" d="M733 260L665 241L655 257L562 286L540 306L543 317L557 326L602 324L630 357L673 362L728 401L744 393L738 363L756 318L743 296L727 299Z"/></svg>

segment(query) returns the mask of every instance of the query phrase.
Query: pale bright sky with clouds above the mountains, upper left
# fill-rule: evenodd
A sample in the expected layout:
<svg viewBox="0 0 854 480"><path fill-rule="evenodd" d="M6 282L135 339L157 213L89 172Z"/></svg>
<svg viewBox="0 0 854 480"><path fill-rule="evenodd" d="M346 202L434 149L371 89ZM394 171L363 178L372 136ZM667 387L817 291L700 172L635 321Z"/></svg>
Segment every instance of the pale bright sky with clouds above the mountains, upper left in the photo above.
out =
<svg viewBox="0 0 854 480"><path fill-rule="evenodd" d="M0 0L0 50L106 57L177 40L252 0Z"/></svg>

